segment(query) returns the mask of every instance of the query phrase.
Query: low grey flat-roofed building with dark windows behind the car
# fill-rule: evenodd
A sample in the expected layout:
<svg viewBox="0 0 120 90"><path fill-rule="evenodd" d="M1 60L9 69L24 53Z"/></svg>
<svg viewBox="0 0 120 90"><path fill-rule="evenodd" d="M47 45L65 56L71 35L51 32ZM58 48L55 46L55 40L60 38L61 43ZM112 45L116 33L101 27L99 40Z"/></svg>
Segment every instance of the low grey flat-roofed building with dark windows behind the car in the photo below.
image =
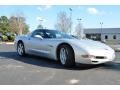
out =
<svg viewBox="0 0 120 90"><path fill-rule="evenodd" d="M84 34L93 40L120 40L120 28L88 28L84 29Z"/></svg>

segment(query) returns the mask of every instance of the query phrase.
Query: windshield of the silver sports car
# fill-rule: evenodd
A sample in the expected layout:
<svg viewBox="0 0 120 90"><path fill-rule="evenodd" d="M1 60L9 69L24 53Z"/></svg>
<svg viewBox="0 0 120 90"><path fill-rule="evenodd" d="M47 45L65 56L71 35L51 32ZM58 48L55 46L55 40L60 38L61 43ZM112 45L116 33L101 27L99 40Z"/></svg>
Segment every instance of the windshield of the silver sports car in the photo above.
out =
<svg viewBox="0 0 120 90"><path fill-rule="evenodd" d="M66 33L57 31L57 30L45 30L45 36L46 36L46 38L74 39L74 37L72 37L72 36L70 36L70 35L68 35Z"/></svg>

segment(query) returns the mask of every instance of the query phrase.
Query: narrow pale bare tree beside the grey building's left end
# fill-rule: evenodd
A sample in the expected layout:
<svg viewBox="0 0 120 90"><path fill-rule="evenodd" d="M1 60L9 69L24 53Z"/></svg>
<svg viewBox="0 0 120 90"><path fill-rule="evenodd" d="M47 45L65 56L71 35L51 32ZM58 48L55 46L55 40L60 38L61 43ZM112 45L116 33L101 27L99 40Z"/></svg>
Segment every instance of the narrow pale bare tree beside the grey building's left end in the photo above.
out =
<svg viewBox="0 0 120 90"><path fill-rule="evenodd" d="M84 29L83 29L83 25L81 23L81 19L79 19L79 21L78 21L78 24L75 28L75 33L76 33L76 36L78 36L80 38L84 37Z"/></svg>

